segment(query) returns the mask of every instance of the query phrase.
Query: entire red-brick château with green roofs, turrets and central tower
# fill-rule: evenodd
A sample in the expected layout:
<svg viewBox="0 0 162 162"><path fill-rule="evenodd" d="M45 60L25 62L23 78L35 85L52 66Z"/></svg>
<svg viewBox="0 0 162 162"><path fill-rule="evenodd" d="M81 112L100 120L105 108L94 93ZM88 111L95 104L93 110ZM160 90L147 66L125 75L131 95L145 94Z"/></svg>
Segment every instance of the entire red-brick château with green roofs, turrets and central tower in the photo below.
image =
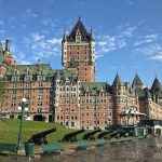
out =
<svg viewBox="0 0 162 162"><path fill-rule="evenodd" d="M26 97L26 116L31 120L55 121L71 129L162 120L162 85L158 78L150 89L137 73L132 83L122 81L118 73L112 84L95 81L95 39L80 18L63 37L62 63L63 69L58 70L43 63L8 67L0 80L0 117L17 118L17 107Z"/></svg>

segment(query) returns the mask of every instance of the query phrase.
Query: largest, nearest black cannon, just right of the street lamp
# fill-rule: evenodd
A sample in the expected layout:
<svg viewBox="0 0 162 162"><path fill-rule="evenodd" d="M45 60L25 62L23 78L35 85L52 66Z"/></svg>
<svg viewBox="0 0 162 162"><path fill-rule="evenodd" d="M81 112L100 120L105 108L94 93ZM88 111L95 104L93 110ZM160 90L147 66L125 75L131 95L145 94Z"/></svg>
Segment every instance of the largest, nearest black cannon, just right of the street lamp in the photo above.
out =
<svg viewBox="0 0 162 162"><path fill-rule="evenodd" d="M39 133L33 134L27 143L35 143L36 145L42 145L42 144L48 144L46 135L55 132L56 129L50 129L46 131L42 131Z"/></svg>

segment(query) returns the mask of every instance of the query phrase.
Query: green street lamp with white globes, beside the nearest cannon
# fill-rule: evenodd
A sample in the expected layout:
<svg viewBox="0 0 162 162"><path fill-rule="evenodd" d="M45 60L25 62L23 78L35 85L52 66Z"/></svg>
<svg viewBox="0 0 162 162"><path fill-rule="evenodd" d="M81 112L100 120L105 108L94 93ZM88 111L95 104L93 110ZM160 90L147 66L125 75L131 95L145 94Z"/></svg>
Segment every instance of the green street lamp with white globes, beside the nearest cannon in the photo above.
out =
<svg viewBox="0 0 162 162"><path fill-rule="evenodd" d="M27 99L23 98L21 106L18 106L18 110L21 111L21 121L19 121L19 130L18 130L18 138L17 138L17 150L19 150L21 145L22 145L23 118L24 118L25 111L28 111L27 106L28 106Z"/></svg>

